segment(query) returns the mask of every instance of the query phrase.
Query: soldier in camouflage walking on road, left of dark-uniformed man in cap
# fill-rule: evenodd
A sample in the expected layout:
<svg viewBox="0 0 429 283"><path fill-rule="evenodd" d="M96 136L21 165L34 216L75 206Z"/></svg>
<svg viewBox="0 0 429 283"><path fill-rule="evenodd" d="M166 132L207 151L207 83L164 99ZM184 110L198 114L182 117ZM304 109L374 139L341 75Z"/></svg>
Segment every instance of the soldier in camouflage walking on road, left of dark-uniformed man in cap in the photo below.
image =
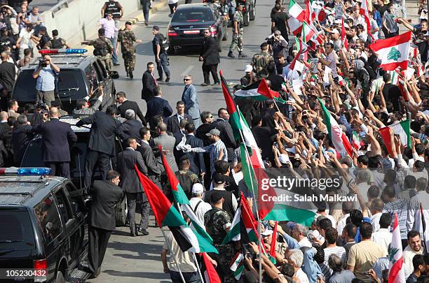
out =
<svg viewBox="0 0 429 283"><path fill-rule="evenodd" d="M133 43L142 43L140 39L135 38L132 29L132 22L125 22L125 29L121 29L118 34L118 43L116 43L116 54L118 53L119 43L121 43L121 52L123 62L125 64L125 72L127 77L134 78L132 71L135 66L135 48Z"/></svg>

